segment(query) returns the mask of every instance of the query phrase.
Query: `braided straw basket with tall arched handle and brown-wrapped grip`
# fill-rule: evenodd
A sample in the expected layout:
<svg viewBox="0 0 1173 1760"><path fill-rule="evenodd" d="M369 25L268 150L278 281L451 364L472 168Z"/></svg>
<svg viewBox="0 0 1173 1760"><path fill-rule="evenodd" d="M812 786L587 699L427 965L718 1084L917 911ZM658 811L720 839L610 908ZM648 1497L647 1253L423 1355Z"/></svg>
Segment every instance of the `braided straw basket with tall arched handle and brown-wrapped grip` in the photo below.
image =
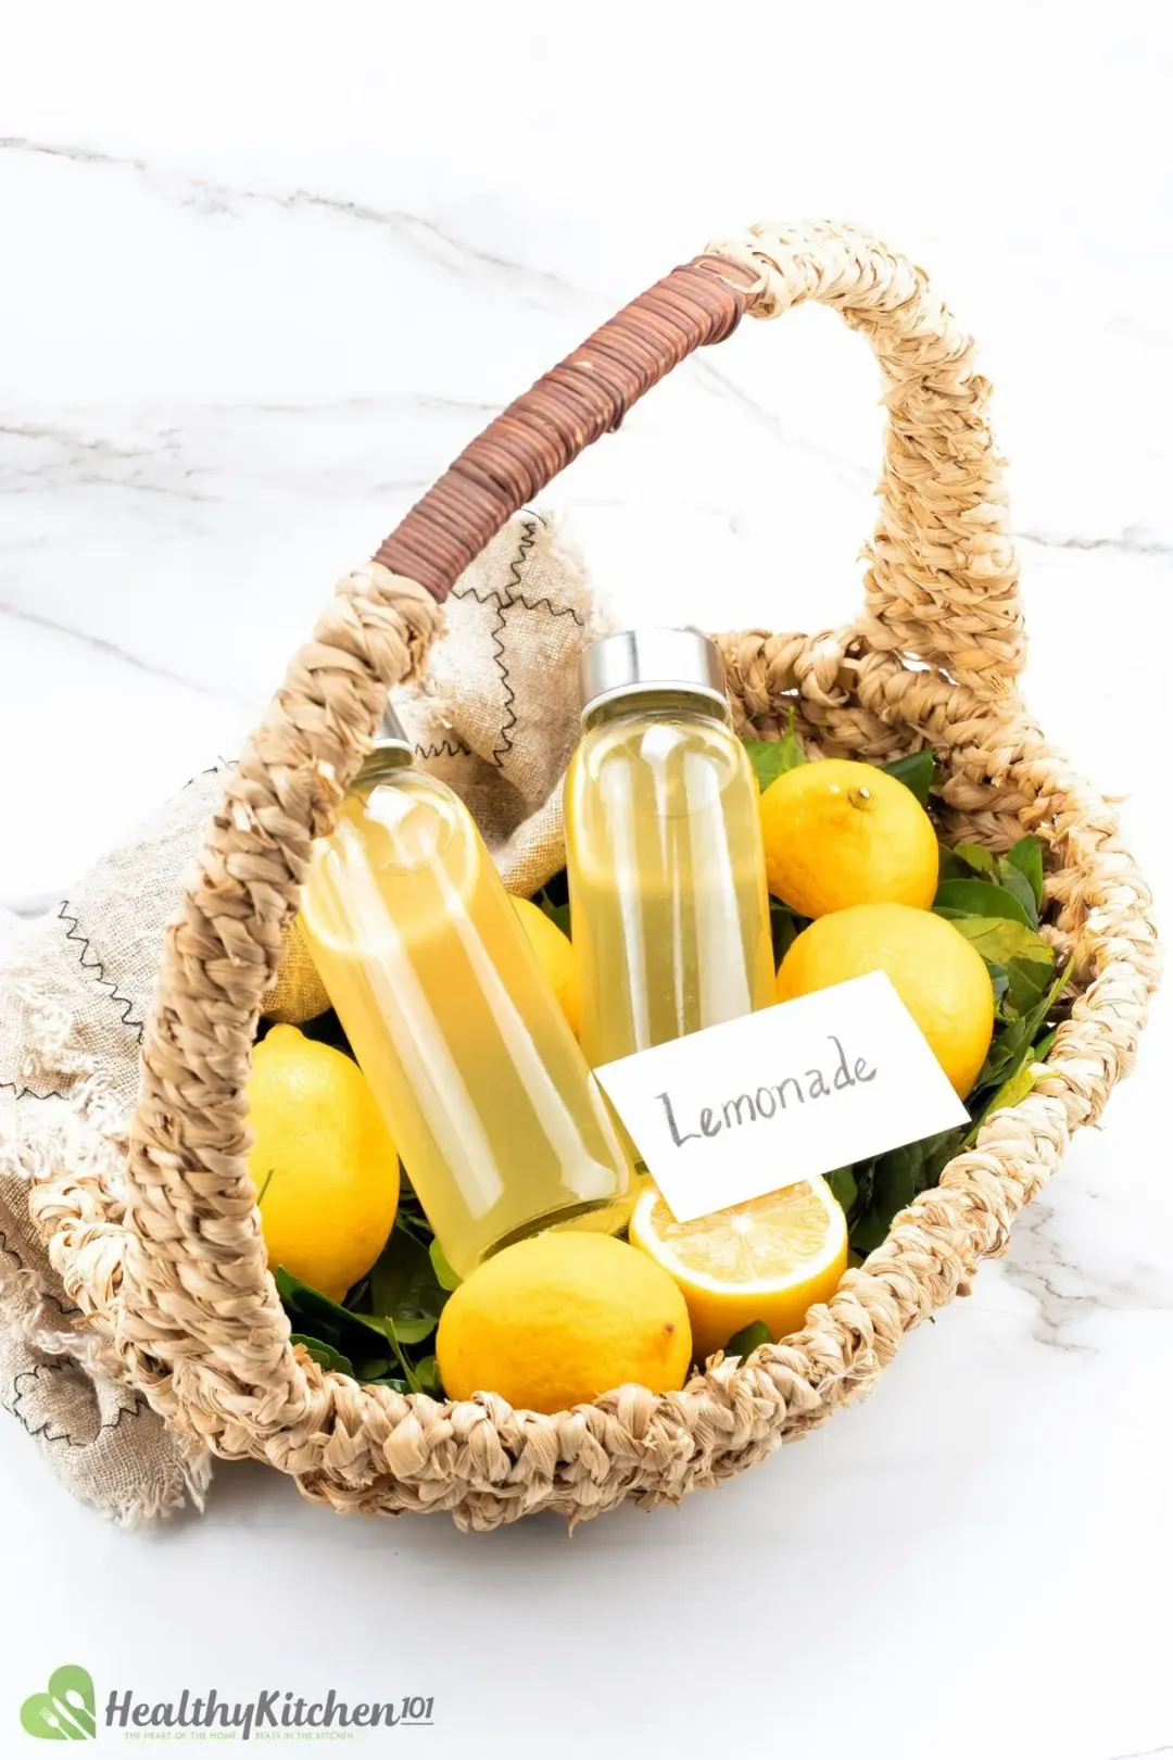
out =
<svg viewBox="0 0 1173 1760"><path fill-rule="evenodd" d="M888 429L856 623L719 637L744 732L793 708L825 753L932 746L948 836L1048 850L1046 933L1076 998L1027 1100L990 1118L802 1332L718 1360L679 1394L623 1387L557 1417L494 1394L445 1404L359 1387L290 1348L244 1165L244 1082L281 928L334 822L387 688L422 669L445 595L522 503L742 313L832 306L871 341ZM865 1392L913 1325L969 1290L1015 1214L1127 1070L1157 950L1115 815L1024 709L1015 554L988 384L923 273L839 225L753 227L674 269L489 424L338 586L230 774L167 933L142 1047L125 1211L63 1179L37 1204L111 1368L216 1454L294 1475L338 1510L447 1510L494 1528L677 1501L804 1436Z"/></svg>

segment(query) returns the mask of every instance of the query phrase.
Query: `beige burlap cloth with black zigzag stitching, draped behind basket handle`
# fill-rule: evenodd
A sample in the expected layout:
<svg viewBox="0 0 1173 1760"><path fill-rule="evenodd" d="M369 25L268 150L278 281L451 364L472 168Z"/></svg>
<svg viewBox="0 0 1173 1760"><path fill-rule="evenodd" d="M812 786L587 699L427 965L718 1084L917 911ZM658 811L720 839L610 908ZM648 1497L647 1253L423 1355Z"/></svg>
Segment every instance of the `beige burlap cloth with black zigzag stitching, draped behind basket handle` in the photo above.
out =
<svg viewBox="0 0 1173 1760"><path fill-rule="evenodd" d="M477 815L505 884L529 894L563 866L579 655L605 621L579 556L538 512L505 526L447 618L424 692L396 706L422 762ZM56 912L0 913L0 1403L76 1496L127 1524L202 1508L209 1459L106 1375L113 1346L62 1288L28 1181L67 1169L83 1186L93 1172L118 1186L164 926L220 796L213 767Z"/></svg>

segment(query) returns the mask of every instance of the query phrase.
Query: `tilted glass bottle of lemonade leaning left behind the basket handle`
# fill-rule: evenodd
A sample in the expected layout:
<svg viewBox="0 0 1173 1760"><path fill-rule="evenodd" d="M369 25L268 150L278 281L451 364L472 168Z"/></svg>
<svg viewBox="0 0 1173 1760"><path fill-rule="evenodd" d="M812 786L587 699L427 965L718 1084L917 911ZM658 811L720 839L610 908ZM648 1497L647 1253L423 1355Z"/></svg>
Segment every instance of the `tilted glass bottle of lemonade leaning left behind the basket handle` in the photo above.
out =
<svg viewBox="0 0 1173 1760"><path fill-rule="evenodd" d="M461 1276L540 1228L617 1227L633 1176L607 1105L471 813L392 711L315 843L302 928Z"/></svg>

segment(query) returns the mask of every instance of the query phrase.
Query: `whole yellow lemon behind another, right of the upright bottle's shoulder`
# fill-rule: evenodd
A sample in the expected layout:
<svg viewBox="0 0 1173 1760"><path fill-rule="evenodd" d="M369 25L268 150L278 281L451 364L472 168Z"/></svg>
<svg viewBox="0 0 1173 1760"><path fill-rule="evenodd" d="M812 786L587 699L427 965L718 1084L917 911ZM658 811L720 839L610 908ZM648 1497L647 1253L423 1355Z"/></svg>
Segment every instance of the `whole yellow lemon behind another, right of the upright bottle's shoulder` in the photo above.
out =
<svg viewBox="0 0 1173 1760"><path fill-rule="evenodd" d="M770 892L800 917L851 905L932 905L937 834L895 776L823 759L777 776L760 804Z"/></svg>

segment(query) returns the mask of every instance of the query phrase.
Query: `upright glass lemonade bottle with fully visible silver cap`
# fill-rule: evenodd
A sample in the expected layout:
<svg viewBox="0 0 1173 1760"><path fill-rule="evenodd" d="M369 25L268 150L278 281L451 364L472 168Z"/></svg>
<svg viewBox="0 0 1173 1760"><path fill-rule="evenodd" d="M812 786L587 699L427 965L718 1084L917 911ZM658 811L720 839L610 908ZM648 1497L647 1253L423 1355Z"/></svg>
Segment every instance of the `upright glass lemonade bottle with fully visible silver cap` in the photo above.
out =
<svg viewBox="0 0 1173 1760"><path fill-rule="evenodd" d="M698 630L624 630L582 662L566 869L591 1067L774 1001L758 785Z"/></svg>

